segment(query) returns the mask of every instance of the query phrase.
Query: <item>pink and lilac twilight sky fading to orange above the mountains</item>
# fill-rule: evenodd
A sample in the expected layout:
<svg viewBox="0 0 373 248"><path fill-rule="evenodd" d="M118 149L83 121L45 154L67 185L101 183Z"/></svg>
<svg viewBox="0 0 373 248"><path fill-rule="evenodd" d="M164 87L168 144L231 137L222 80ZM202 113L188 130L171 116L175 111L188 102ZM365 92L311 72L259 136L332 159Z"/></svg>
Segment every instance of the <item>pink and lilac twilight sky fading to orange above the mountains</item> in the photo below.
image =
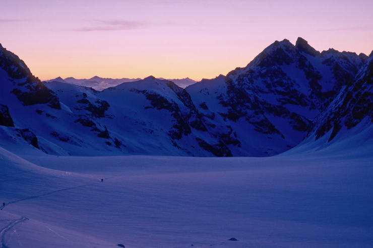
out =
<svg viewBox="0 0 373 248"><path fill-rule="evenodd" d="M285 38L373 49L371 0L0 1L0 43L42 80L212 78Z"/></svg>

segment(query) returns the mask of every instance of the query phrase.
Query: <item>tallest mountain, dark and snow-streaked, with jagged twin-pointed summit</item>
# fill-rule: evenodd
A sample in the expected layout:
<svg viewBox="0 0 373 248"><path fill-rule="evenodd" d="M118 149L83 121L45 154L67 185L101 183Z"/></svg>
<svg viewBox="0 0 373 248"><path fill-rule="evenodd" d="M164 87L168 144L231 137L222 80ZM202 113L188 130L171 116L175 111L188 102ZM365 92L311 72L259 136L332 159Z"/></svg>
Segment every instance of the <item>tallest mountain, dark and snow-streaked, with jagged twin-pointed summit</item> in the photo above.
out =
<svg viewBox="0 0 373 248"><path fill-rule="evenodd" d="M231 134L233 155L273 155L297 145L312 120L351 84L367 56L318 52L302 38L276 41L244 68L186 90L213 133ZM226 143L227 144L227 143Z"/></svg>

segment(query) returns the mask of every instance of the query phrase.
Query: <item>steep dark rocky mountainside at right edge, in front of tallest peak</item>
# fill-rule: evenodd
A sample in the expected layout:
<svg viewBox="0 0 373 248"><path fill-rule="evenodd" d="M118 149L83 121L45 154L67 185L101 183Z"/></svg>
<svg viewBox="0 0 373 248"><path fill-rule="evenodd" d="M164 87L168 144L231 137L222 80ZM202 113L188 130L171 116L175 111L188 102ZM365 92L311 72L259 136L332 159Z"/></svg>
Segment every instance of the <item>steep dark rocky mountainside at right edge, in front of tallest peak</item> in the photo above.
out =
<svg viewBox="0 0 373 248"><path fill-rule="evenodd" d="M292 152L373 149L373 56L361 67L353 84L315 118L312 130Z"/></svg>

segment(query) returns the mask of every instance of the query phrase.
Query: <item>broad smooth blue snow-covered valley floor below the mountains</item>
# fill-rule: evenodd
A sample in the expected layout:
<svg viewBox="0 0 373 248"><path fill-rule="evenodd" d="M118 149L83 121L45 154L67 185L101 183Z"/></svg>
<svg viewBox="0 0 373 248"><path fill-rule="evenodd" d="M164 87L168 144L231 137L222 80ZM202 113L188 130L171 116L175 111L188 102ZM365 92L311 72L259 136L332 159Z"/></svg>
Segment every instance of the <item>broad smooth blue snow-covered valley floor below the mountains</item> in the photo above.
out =
<svg viewBox="0 0 373 248"><path fill-rule="evenodd" d="M24 158L0 148L2 248L373 245L373 155Z"/></svg>

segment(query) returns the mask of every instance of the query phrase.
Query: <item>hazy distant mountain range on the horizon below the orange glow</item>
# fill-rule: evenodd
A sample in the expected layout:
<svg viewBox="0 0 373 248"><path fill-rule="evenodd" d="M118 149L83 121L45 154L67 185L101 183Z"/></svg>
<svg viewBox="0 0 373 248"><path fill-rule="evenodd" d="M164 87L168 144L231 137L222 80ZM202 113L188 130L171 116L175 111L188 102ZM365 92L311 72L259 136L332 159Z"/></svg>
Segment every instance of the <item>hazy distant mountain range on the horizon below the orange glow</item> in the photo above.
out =
<svg viewBox="0 0 373 248"><path fill-rule="evenodd" d="M164 79L160 77L159 79L163 80L170 80L173 81L177 86L181 88L186 88L190 85L195 84L195 80L186 77L182 79ZM88 79L82 78L82 79L76 79L74 77L66 77L66 78L61 78L61 77L56 77L50 80L46 80L46 82L52 82L52 81L57 81L57 82L67 82L69 84L73 85L79 85L79 86L84 86L84 87L90 87L95 89L96 91L102 91L104 89L107 89L109 87L114 87L117 85L122 84L123 82L133 82L133 81L138 81L141 80L141 78L103 78L99 76L94 76Z"/></svg>

